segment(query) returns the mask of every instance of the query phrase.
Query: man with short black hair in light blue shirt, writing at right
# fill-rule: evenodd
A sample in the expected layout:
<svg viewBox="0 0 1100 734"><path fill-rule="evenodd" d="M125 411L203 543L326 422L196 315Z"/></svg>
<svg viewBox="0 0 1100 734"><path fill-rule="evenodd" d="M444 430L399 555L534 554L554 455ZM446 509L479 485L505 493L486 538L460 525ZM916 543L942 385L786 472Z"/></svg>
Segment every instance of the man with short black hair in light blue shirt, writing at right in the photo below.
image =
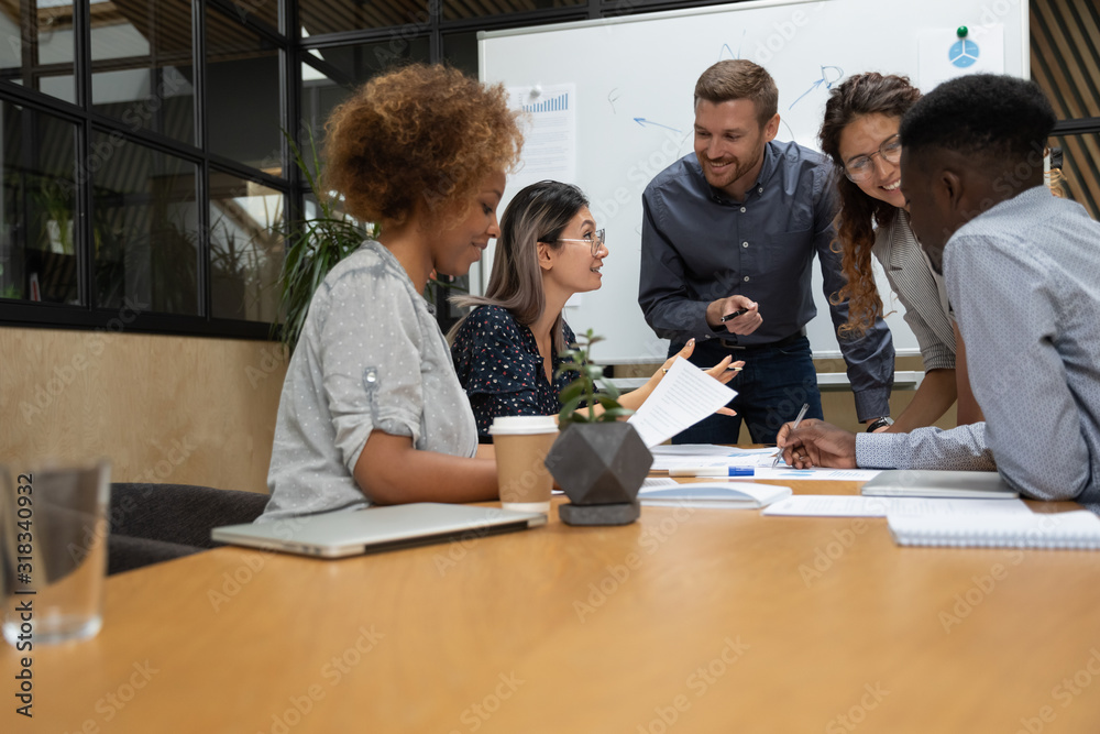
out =
<svg viewBox="0 0 1100 734"><path fill-rule="evenodd" d="M1054 122L1034 83L983 74L936 87L901 125L913 232L943 271L986 423L784 426L790 463L996 467L1027 496L1100 507L1100 223L1043 183Z"/></svg>

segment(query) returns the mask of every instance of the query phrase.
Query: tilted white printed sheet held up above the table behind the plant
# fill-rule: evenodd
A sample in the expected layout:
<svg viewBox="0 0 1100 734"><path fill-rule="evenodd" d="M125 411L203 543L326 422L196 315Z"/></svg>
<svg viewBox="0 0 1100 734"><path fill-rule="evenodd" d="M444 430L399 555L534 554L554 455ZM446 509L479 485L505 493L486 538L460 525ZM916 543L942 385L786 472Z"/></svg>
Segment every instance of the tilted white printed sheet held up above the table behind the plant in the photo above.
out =
<svg viewBox="0 0 1100 734"><path fill-rule="evenodd" d="M646 446L653 447L694 426L736 395L736 391L680 357L657 390L630 416L630 423Z"/></svg>

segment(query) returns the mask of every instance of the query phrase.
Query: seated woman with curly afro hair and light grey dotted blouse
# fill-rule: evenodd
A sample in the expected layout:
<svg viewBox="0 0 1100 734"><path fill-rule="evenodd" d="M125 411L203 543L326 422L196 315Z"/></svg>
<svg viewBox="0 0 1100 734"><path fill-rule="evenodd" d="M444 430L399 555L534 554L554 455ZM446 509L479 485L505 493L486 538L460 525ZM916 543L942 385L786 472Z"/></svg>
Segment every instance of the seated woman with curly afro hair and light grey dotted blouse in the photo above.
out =
<svg viewBox="0 0 1100 734"><path fill-rule="evenodd" d="M496 465L421 297L498 232L522 144L503 87L442 66L369 81L326 125L327 187L380 226L309 306L279 399L261 522L369 504L494 499Z"/></svg>

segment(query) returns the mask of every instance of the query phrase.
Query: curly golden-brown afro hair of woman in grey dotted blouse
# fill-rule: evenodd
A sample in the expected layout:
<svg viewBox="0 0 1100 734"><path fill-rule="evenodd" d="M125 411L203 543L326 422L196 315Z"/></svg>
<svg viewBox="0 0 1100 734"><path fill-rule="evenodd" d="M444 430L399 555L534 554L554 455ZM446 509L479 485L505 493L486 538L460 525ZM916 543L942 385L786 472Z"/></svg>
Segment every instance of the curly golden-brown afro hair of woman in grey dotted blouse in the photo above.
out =
<svg viewBox="0 0 1100 734"><path fill-rule="evenodd" d="M324 180L365 221L402 224L426 205L457 222L486 176L508 172L524 138L502 85L414 64L360 87L324 125Z"/></svg>

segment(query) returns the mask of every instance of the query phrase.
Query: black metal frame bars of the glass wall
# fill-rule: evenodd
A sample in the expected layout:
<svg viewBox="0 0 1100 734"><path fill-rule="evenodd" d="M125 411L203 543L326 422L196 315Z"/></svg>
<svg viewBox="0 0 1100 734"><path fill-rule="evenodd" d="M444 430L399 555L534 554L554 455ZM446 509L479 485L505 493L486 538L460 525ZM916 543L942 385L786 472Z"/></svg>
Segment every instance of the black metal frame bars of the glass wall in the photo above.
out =
<svg viewBox="0 0 1100 734"><path fill-rule="evenodd" d="M349 44L374 43L393 39L395 35L405 39L424 39L429 41L430 61L443 61L443 39L454 33L504 30L519 26L544 25L551 23L578 20L594 20L616 15L647 13L661 10L679 10L714 4L723 4L716 0L587 0L586 2L562 7L541 8L518 12L505 12L497 15L466 18L461 20L443 20L442 3L447 0L425 0L428 19L416 20L403 25L385 28L348 30L338 33L320 34L300 37L298 19L298 0L278 0L278 25L272 28L263 20L249 13L250 2L255 0L193 0L193 63L195 69L194 84L194 144L183 143L164 134L145 129L130 129L122 121L98 113L91 108L91 50L90 50L90 4L87 0L77 0L74 6L74 41L75 41L75 85L76 105L35 92L10 81L0 80L0 100L20 105L24 108L57 116L77 125L77 161L87 161L89 140L94 131L111 134L118 132L127 141L133 141L155 151L178 156L196 164L198 180L196 187L196 208L199 222L199 267L198 288L200 298L199 316L182 316L170 314L127 314L125 329L143 333L187 335L217 338L260 339L277 338L277 329L272 324L213 318L210 293L210 191L208 182L211 169L226 172L240 178L254 180L266 187L280 191L286 206L284 216L287 221L296 221L304 210L304 199L312 191L306 185L302 175L294 166L288 145L280 143L283 156L283 176L273 176L264 171L244 165L229 157L211 153L208 147L208 130L206 125L207 85L206 70L206 14L208 9L220 11L223 15L241 23L245 29L261 36L265 43L279 52L279 124L284 130L293 131L295 142L305 150L300 113L302 103L301 64L310 52L318 48L342 46ZM258 7L258 6L256 6ZM437 12L431 12L436 10ZM24 23L30 21L23 19ZM308 62L307 62L308 63ZM103 66L97 63L97 68ZM33 72L33 69L32 69ZM1100 118L1081 118L1062 120L1057 123L1054 134L1092 134L1100 133ZM78 258L79 293L84 296L82 306L30 303L23 300L0 300L0 326L6 327L41 327L61 329L118 329L120 322L119 309L96 307L90 298L94 278L91 260L91 212L92 200L90 186L79 185L79 195L75 216L81 229L78 238L81 258ZM447 313L443 303L447 294L437 291L437 309ZM444 325L446 327L446 325Z"/></svg>

